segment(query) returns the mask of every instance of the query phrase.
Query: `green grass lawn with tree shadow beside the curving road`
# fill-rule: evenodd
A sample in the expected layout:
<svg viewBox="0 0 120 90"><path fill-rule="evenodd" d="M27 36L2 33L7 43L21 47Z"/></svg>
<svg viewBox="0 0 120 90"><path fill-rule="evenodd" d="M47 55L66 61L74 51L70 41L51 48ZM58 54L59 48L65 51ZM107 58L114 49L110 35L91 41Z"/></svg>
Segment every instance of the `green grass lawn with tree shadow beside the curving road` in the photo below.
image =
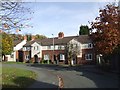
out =
<svg viewBox="0 0 120 90"><path fill-rule="evenodd" d="M29 70L3 67L2 87L3 88L26 88L31 85L36 78L36 74Z"/></svg>

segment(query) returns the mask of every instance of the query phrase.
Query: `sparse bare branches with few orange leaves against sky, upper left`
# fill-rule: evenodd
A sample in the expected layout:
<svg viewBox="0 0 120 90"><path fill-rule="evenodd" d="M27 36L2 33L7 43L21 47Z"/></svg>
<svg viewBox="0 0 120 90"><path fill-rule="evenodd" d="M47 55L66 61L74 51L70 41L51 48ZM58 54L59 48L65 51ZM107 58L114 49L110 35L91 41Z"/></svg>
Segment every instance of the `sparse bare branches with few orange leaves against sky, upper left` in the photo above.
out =
<svg viewBox="0 0 120 90"><path fill-rule="evenodd" d="M11 0L1 0L0 1L0 30L9 33L11 31L19 32L21 28L27 27L25 21L31 18L25 17L29 12L31 14L30 8L26 8L23 2L11 2Z"/></svg>

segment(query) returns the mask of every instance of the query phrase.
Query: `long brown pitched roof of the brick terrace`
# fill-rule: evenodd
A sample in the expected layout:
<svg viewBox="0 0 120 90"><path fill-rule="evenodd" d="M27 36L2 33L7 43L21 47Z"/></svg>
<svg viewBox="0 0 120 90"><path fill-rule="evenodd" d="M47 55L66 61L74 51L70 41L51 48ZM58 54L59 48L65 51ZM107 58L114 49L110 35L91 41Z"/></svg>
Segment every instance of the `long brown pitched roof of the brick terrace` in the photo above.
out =
<svg viewBox="0 0 120 90"><path fill-rule="evenodd" d="M68 36L64 37L62 39L58 39L58 37L54 38L54 44L55 45L65 45L67 44L70 40L72 39L77 39L80 43L90 43L92 42L90 36L88 35L80 35L80 36ZM31 46L34 42L37 42L41 44L42 46L47 46L47 45L53 45L53 38L46 38L46 39L36 39L34 41L29 41L27 42L24 46Z"/></svg>

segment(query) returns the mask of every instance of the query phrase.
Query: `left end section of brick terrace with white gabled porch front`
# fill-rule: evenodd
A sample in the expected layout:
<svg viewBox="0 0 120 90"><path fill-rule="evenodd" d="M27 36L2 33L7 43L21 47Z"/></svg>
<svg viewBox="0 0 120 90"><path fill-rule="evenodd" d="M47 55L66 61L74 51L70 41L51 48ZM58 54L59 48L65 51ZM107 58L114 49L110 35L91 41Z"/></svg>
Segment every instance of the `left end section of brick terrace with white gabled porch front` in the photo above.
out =
<svg viewBox="0 0 120 90"><path fill-rule="evenodd" d="M41 60L41 46L37 42L29 41L27 42L23 48L19 51L20 52L20 62L40 62Z"/></svg>

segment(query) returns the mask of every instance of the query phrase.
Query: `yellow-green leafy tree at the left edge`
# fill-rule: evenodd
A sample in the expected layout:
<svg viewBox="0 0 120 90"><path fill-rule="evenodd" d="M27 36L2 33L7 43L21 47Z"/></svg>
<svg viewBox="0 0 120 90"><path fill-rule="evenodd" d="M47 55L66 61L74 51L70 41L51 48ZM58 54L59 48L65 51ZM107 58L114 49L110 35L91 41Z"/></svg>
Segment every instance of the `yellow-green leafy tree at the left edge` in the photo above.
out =
<svg viewBox="0 0 120 90"><path fill-rule="evenodd" d="M7 33L2 33L2 54L11 54L13 50L13 39Z"/></svg>

